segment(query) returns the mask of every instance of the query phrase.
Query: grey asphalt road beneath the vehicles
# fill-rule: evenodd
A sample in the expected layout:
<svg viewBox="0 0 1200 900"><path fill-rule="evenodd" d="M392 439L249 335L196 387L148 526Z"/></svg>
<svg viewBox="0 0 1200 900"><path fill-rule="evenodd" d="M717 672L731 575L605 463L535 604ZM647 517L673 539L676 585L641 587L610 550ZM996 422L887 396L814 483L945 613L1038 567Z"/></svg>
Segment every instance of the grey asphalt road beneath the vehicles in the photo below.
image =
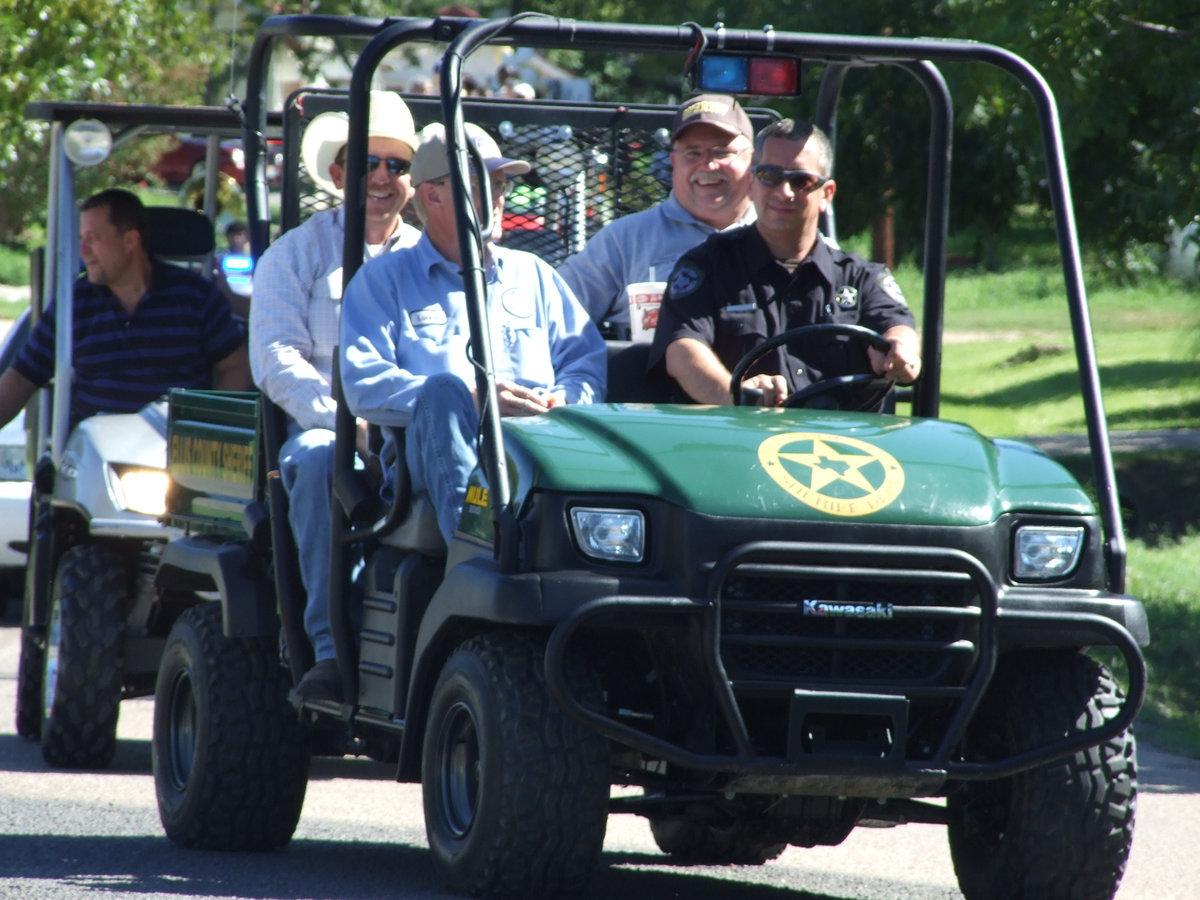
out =
<svg viewBox="0 0 1200 900"><path fill-rule="evenodd" d="M107 772L60 772L16 737L18 630L0 626L0 898L366 900L451 896L428 859L420 788L385 766L317 760L287 850L194 852L162 834L150 768L152 701L121 704ZM1118 900L1200 896L1200 762L1142 744L1133 856ZM857 829L839 847L788 848L760 868L680 868L644 822L611 816L593 898L947 900L961 898L944 832Z"/></svg>

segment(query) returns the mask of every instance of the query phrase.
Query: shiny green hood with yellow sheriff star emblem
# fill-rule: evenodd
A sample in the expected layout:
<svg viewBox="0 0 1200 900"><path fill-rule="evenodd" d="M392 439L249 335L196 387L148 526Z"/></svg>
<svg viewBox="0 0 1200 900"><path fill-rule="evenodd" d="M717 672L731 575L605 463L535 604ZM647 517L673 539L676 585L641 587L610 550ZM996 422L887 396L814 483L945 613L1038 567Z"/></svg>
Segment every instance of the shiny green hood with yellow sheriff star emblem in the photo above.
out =
<svg viewBox="0 0 1200 900"><path fill-rule="evenodd" d="M514 500L648 494L712 516L977 526L1092 514L1058 463L938 419L601 403L504 420Z"/></svg>

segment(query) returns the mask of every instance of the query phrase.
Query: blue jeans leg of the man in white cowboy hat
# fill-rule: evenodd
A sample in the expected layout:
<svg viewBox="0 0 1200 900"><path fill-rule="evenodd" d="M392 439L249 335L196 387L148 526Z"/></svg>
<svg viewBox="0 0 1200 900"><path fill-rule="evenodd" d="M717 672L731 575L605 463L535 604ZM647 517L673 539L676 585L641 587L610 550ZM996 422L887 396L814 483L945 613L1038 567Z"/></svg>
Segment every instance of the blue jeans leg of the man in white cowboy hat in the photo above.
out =
<svg viewBox="0 0 1200 900"><path fill-rule="evenodd" d="M294 431L280 448L280 476L288 493L288 522L300 557L300 577L308 595L304 630L318 661L335 659L337 653L329 624L334 432L328 428Z"/></svg>

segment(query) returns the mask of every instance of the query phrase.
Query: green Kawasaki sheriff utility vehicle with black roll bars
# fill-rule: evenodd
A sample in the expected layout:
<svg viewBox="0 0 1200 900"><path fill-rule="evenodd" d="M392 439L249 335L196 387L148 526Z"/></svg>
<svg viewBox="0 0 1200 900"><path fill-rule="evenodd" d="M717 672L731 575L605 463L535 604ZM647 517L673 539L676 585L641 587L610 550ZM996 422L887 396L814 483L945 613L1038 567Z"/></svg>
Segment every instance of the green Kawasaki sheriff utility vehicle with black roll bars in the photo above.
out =
<svg viewBox="0 0 1200 900"><path fill-rule="evenodd" d="M836 845L858 826L940 823L971 900L1111 896L1133 838L1132 725L1148 629L1124 593L1062 139L1038 73L959 41L542 16L280 17L252 54L251 160L270 48L314 31L365 42L343 101L347 278L361 264L372 77L396 48L445 47L437 118L463 222L476 386L492 402L450 547L403 485L390 508L374 503L376 486L352 464L354 422L340 410L330 553L348 701L293 708L289 690L312 654L276 476L278 410L245 396L172 397L169 516L187 536L167 545L156 582L198 602L175 623L158 673L155 781L170 839L280 847L300 816L310 752L352 752L422 785L433 860L466 894L582 890L608 815L626 812L694 863L761 864L790 844ZM515 126L553 125L594 166L581 182L590 212L628 209L623 178L650 172L638 154L661 150L625 118L647 116L653 136L672 107L464 101L463 61L490 42L677 55L704 90L713 72L820 66L811 118L830 133L851 68L914 78L930 100L930 142L925 371L895 396L911 412L662 403L643 374L644 346L613 343L608 402L502 421L480 330L487 229L467 222L463 121L494 131L502 150ZM952 136L940 67L964 64L1015 77L1042 125L1091 492L1031 446L937 418ZM421 124L432 110L412 100ZM289 112L284 204L299 134ZM606 139L589 143L598 133ZM588 156L595 146L610 151ZM538 175L530 196L547 184ZM253 191L262 178L252 163L256 253L268 232ZM571 221L590 227L587 215L566 216L547 239L575 239ZM836 398L841 385L820 392ZM1090 655L1096 647L1120 661L1121 684Z"/></svg>

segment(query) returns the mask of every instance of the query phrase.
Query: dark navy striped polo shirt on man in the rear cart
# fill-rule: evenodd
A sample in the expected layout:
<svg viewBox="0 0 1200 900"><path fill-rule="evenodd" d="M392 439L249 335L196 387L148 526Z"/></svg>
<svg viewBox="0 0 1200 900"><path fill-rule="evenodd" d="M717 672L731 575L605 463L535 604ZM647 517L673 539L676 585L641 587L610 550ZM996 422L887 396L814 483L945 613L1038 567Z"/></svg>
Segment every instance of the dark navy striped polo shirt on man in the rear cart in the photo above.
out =
<svg viewBox="0 0 1200 900"><path fill-rule="evenodd" d="M34 384L54 376L54 304L13 366ZM212 366L242 342L228 300L208 278L154 260L150 289L128 314L103 284L74 284L72 426L96 413L132 413L169 388L211 388Z"/></svg>

